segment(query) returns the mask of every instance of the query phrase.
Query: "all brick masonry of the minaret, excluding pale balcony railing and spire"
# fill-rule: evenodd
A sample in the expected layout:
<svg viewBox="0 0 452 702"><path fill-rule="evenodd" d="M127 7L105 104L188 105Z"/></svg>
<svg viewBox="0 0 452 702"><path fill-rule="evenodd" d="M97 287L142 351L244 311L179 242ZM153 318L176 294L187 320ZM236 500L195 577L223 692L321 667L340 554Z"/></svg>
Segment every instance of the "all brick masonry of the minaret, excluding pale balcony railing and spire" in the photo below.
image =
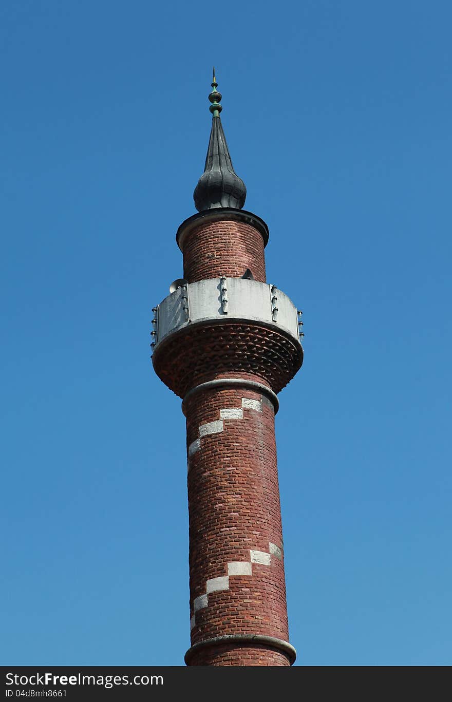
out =
<svg viewBox="0 0 452 702"><path fill-rule="evenodd" d="M185 279L244 277L248 269L265 282L266 225L260 220L258 228L252 226L253 217L246 213L244 221L229 211L224 219L206 215L199 223L182 223L178 244ZM284 643L288 622L274 406L249 386L199 386L242 379L277 393L303 363L303 349L277 325L206 320L164 339L152 363L184 399L187 418L192 647L185 661L290 665L295 651Z"/></svg>

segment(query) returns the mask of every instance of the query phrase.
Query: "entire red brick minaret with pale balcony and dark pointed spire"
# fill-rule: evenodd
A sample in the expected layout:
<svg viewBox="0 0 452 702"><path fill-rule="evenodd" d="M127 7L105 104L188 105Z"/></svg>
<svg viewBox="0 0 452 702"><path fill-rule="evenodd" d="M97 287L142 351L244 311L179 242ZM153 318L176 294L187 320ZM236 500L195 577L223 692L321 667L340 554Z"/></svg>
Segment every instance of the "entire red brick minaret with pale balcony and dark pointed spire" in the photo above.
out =
<svg viewBox="0 0 452 702"><path fill-rule="evenodd" d="M242 209L213 75L212 131L176 241L184 278L157 307L154 370L187 418L187 665L291 665L274 438L277 393L303 362L301 312L265 280L267 225Z"/></svg>

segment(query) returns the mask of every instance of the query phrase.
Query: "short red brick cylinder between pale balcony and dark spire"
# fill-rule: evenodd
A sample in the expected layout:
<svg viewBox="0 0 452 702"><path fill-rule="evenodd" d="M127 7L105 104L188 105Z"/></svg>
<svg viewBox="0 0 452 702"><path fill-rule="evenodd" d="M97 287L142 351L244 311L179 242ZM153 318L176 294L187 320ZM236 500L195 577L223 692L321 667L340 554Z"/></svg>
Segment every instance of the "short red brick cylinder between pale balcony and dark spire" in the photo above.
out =
<svg viewBox="0 0 452 702"><path fill-rule="evenodd" d="M251 225L233 220L201 223L183 241L184 277L189 283L221 275L243 277L247 268L265 283L262 234Z"/></svg>

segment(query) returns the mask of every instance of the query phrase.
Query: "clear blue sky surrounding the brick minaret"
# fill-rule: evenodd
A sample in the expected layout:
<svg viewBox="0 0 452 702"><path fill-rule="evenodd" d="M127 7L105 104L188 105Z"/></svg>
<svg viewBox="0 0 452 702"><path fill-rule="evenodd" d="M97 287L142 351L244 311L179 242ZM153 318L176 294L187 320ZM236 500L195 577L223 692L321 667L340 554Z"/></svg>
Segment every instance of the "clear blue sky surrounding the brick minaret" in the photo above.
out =
<svg viewBox="0 0 452 702"><path fill-rule="evenodd" d="M0 662L182 665L185 420L149 360L211 65L267 274L297 665L451 663L447 1L4 0Z"/></svg>

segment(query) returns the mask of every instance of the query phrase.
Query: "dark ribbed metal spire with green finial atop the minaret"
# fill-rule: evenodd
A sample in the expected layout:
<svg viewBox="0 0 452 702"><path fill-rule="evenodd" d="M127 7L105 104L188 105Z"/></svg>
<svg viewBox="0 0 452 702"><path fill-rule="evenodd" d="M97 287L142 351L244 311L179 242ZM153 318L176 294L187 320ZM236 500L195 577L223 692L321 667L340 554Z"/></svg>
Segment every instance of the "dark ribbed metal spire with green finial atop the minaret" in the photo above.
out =
<svg viewBox="0 0 452 702"><path fill-rule="evenodd" d="M211 101L211 106L208 109L212 113L211 138L208 142L204 173L194 189L194 204L199 212L217 207L232 207L240 210L245 204L246 186L237 173L234 173L227 148L220 119L221 93L217 91L215 68L213 69L211 86L213 90L208 96Z"/></svg>

